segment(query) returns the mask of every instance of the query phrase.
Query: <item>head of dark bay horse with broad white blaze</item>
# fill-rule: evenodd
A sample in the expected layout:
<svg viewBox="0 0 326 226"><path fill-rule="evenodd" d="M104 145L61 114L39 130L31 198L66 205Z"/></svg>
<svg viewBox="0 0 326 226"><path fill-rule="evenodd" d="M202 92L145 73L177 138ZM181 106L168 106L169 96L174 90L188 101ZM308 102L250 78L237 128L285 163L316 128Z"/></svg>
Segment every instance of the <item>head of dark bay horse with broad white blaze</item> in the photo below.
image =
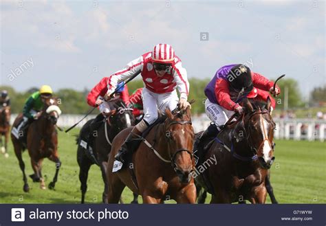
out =
<svg viewBox="0 0 326 226"><path fill-rule="evenodd" d="M245 113L242 115L241 126L246 135L246 142L254 155L257 155L261 168L269 169L274 162L273 136L275 123L270 115L271 102L267 104L243 100Z"/></svg>

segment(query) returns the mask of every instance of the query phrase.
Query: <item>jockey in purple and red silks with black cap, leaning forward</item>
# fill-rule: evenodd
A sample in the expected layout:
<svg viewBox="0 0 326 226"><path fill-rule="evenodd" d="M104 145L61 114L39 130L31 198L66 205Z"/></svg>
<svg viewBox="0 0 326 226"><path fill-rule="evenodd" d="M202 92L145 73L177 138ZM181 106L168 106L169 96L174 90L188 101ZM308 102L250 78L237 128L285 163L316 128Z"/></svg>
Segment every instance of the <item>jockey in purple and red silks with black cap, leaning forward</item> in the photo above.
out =
<svg viewBox="0 0 326 226"><path fill-rule="evenodd" d="M214 124L210 124L202 134L200 140L206 137L215 137L224 126L229 117L234 113L243 113L243 108L239 102L248 95L253 95L253 87L261 91L269 91L272 95L279 95L281 89L276 85L273 89L274 82L261 76L256 72L250 71L245 65L226 65L217 70L215 76L207 84L205 95L205 111ZM267 96L263 93L263 98Z"/></svg>

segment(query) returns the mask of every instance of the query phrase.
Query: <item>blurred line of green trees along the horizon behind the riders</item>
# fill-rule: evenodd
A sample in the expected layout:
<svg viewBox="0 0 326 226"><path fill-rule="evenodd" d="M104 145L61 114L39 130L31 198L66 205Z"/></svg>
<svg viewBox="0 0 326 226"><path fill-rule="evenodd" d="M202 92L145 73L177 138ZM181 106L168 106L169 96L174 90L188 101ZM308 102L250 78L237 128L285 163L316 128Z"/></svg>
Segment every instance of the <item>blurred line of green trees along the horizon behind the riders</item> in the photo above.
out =
<svg viewBox="0 0 326 226"><path fill-rule="evenodd" d="M190 78L190 93L189 100L195 99L196 102L192 106L193 113L204 113L204 100L206 96L204 95L204 89L210 79L198 79ZM281 88L281 95L276 98L276 109L283 109L284 104L284 90L287 87L288 90L288 106L289 108L298 108L305 106L303 97L301 96L301 91L298 88L298 82L292 78L279 80L279 87ZM129 94L133 93L136 89L143 87L143 82L141 79L135 79L128 83ZM27 91L16 91L13 87L0 86L0 90L6 89L10 95L12 102L12 113L20 113L23 110L26 99L34 91L37 91L37 87L32 87ZM58 89L54 91L54 95L61 100L61 109L63 113L69 114L83 114L89 110L89 105L87 104L86 97L89 93L89 89L84 89L83 91L76 91L74 89ZM322 87L316 87L311 93L309 101L310 104L325 104L326 102L326 85Z"/></svg>

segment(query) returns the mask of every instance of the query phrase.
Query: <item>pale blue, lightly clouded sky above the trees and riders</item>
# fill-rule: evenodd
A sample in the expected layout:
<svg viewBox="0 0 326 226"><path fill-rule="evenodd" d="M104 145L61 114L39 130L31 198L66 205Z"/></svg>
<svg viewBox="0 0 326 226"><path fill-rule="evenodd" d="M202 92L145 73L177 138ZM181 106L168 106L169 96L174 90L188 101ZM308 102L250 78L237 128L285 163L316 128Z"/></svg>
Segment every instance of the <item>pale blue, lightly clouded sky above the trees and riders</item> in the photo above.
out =
<svg viewBox="0 0 326 226"><path fill-rule="evenodd" d="M325 1L1 1L0 18L1 84L19 91L90 89L157 43L174 47L189 78L252 61L305 96L326 82Z"/></svg>

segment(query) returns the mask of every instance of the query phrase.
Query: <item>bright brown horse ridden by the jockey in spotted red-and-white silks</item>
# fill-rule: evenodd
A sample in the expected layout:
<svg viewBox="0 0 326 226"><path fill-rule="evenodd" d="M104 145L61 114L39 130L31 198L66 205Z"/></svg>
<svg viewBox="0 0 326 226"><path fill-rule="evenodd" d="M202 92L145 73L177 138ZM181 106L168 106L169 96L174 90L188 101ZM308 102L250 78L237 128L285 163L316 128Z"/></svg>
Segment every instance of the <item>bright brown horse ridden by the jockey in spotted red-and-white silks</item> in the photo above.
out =
<svg viewBox="0 0 326 226"><path fill-rule="evenodd" d="M195 135L190 109L176 114L166 109L166 119L144 135L128 167L112 172L114 156L131 129L124 129L113 139L107 166L108 202L118 203L127 185L142 196L143 203L161 203L166 197L177 203L195 203L196 188L191 177Z"/></svg>

